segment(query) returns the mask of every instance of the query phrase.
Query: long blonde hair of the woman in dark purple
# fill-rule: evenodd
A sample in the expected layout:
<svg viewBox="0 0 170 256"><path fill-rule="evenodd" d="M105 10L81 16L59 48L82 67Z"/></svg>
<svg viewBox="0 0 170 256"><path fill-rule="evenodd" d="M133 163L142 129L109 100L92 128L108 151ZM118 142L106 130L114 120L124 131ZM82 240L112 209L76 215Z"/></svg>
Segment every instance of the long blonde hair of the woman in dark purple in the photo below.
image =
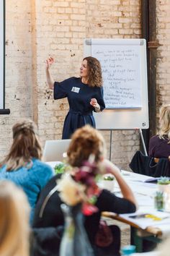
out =
<svg viewBox="0 0 170 256"><path fill-rule="evenodd" d="M164 135L167 135L170 140L170 104L161 107L159 120L159 138L164 139Z"/></svg>

